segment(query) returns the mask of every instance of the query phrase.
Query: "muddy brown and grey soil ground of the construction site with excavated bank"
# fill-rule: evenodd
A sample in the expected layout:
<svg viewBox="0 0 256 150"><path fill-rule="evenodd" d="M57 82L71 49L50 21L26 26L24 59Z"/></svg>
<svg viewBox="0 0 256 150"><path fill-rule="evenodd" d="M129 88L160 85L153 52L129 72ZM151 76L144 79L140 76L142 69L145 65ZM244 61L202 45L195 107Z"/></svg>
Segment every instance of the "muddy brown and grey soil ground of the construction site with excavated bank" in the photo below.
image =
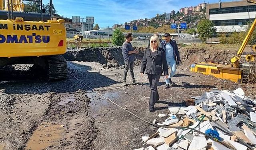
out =
<svg viewBox="0 0 256 150"><path fill-rule="evenodd" d="M239 84L213 76L190 72L200 61L228 64L238 46L198 45L180 48L181 65L173 77L175 84L164 89L160 78L160 100L156 111L148 111L148 78L140 77L140 62L145 48L136 55L134 73L137 85L122 86L123 58L120 47L68 49L68 71L91 88L130 112L152 122L158 113L169 114L168 105L178 105L191 96L218 88L241 87L256 98L254 84ZM245 53L250 52L250 47ZM36 72L36 73L34 73ZM63 81L42 80L40 68L14 65L1 68L0 150L133 150L143 147L142 136L157 128L124 112L94 93L72 75ZM33 75L33 78L31 78ZM4 80L4 81L3 81ZM148 135L147 135L148 136ZM147 146L146 146L147 147Z"/></svg>

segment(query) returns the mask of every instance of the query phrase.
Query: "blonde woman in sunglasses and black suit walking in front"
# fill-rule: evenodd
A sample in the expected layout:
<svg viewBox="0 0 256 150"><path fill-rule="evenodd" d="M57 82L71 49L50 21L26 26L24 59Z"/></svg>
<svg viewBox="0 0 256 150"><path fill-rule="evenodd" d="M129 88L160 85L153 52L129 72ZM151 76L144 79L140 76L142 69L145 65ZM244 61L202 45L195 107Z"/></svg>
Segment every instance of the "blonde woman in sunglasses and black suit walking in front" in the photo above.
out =
<svg viewBox="0 0 256 150"><path fill-rule="evenodd" d="M149 100L150 112L154 112L154 105L156 101L159 100L157 84L159 82L161 74L164 72L164 77L166 79L169 75L164 49L160 48L159 46L159 38L157 36L152 36L150 38L150 47L145 50L141 62L140 75L143 77L144 72L148 74L148 80L151 88Z"/></svg>

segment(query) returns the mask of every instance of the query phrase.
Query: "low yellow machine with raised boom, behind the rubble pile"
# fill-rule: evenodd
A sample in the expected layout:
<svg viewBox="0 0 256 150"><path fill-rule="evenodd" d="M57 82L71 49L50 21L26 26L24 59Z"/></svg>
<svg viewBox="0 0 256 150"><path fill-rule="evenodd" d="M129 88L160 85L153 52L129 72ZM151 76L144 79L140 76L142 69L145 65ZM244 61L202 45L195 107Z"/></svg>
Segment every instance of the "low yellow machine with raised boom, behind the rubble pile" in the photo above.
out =
<svg viewBox="0 0 256 150"><path fill-rule="evenodd" d="M256 0L247 0L247 2L256 4ZM240 63L241 55L244 52L244 49L255 29L255 26L256 19L250 27L250 30L248 31L236 56L231 59L231 65L200 62L197 64L192 64L190 71L200 72L203 74L215 76L216 78L232 80L239 83L256 83L256 45L254 45L252 48L254 54L246 55L246 60L248 63Z"/></svg>

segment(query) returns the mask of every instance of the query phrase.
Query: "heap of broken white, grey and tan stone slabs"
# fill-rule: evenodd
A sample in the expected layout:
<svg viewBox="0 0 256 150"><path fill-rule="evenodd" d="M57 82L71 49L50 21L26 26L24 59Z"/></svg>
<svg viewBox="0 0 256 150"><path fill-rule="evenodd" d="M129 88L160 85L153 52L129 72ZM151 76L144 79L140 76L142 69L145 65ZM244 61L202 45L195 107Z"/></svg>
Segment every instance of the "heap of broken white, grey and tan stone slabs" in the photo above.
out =
<svg viewBox="0 0 256 150"><path fill-rule="evenodd" d="M160 120L153 124L159 129L142 137L148 147L136 150L256 148L256 100L245 96L241 88L232 92L214 88L187 100L186 106L170 106L170 114L158 114Z"/></svg>

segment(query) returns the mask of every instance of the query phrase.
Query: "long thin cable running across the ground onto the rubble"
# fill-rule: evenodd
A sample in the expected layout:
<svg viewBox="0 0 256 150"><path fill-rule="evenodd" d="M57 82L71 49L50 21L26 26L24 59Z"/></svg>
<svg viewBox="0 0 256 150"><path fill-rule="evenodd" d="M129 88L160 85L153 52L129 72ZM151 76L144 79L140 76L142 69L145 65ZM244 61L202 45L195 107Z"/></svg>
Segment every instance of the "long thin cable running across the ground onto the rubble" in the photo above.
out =
<svg viewBox="0 0 256 150"><path fill-rule="evenodd" d="M148 124L150 124L150 125L152 125L152 126L155 126L155 127L157 127L157 128L190 129L191 131L193 130L193 131L195 131L195 132L198 132L198 133L200 133L200 134L203 134L204 136L207 136L207 137L211 138L212 140L214 140L214 141L216 141L216 142L219 142L219 143L223 144L224 146L226 146L226 147L228 147L228 148L230 148L230 149L232 149L232 150L236 150L236 149L234 149L233 147L229 146L228 144L226 144L226 143L224 143L224 142L222 142L222 141L219 141L218 139L216 139L216 138L214 138L214 137L212 137L212 136L209 136L209 135L207 135L207 134L205 134L205 133L203 133L203 132L201 132L201 131L198 131L198 130L196 130L195 128L190 128L189 126L188 126L188 127L181 127L181 126L172 126L172 127L170 127L170 126L165 126L165 125L161 125L161 126L160 126L160 125L157 125L157 124L153 124L153 123L151 123L151 122L148 122L147 120L144 120L144 119L140 118L140 117L137 116L136 114L134 114L134 113L132 113L132 112L126 110L126 109L123 108L122 106L116 104L115 102L113 102L113 101L110 100L109 98L104 97L103 95L101 95L100 93L98 93L97 91L95 91L94 89L92 89L90 86L88 86L85 82L83 82L83 81L79 80L78 78L76 78L76 76L74 76L73 74L71 74L69 71L68 71L68 73L69 73L71 76L73 76L76 80L78 80L79 82L83 83L85 86L87 86L88 88L90 88L93 92L95 92L96 94L98 94L99 96L101 96L102 98L105 98L106 100L109 100L111 103L115 104L116 106L118 106L118 107L121 108L122 110L124 110L124 111L126 111L126 112L132 114L132 115L135 116L136 118L138 118L138 119L140 119L140 120L142 120L142 121L144 121L144 122L146 122L146 123L148 123ZM200 121L200 123L201 123L201 121ZM199 124L200 124L200 123L199 123ZM199 124L198 124L198 125L199 125ZM190 132L191 132L191 131L190 131ZM177 138L177 139L178 139L178 138Z"/></svg>

